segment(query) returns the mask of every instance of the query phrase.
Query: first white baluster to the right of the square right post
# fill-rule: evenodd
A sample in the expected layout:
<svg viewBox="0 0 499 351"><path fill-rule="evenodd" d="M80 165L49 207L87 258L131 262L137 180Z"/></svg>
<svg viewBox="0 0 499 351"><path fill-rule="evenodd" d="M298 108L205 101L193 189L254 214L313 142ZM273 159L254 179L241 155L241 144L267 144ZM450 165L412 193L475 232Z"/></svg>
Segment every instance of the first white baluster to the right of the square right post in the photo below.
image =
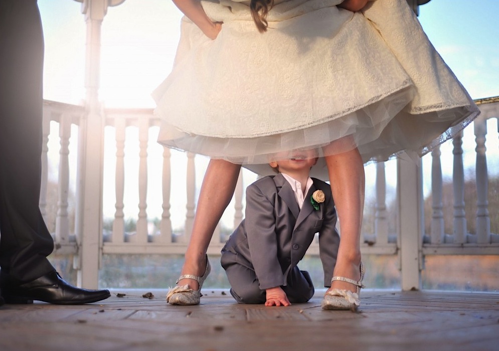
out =
<svg viewBox="0 0 499 351"><path fill-rule="evenodd" d="M433 214L431 217L431 243L443 243L444 221L442 205L442 166L440 163L440 145L431 152L431 197Z"/></svg>

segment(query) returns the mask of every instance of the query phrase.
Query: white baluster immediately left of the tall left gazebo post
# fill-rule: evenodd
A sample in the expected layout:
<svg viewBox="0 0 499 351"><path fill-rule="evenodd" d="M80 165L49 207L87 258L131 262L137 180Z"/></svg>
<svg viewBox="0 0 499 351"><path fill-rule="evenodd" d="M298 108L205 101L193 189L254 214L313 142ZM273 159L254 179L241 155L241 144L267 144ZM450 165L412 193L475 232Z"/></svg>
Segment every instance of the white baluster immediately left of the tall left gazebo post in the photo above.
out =
<svg viewBox="0 0 499 351"><path fill-rule="evenodd" d="M59 188L56 217L56 242L65 244L69 242L68 219L68 191L69 191L69 137L71 135L71 121L64 115L59 123L59 137L61 149L59 150Z"/></svg>

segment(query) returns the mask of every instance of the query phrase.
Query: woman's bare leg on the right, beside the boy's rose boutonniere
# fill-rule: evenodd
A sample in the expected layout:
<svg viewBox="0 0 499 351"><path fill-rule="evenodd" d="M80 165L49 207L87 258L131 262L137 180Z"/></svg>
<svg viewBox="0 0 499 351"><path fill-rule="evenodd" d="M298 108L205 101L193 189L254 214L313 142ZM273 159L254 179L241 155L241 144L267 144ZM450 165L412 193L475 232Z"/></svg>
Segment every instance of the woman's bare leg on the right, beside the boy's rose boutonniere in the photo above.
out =
<svg viewBox="0 0 499 351"><path fill-rule="evenodd" d="M335 143L351 143L349 137ZM338 144L329 145L337 147ZM340 248L333 276L359 280L361 251L360 237L364 212L365 173L364 163L357 148L325 157L332 197L335 200L340 221ZM335 280L332 288L356 292L357 287L350 283Z"/></svg>

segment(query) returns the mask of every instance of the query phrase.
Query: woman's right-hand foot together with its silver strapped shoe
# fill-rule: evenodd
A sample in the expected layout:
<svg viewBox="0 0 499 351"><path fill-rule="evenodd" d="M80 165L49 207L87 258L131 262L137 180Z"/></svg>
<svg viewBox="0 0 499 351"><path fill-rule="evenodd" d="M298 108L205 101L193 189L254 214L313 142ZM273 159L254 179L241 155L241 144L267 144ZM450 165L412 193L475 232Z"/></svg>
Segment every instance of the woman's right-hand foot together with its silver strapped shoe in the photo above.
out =
<svg viewBox="0 0 499 351"><path fill-rule="evenodd" d="M331 279L331 287L326 291L321 306L323 309L352 310L356 311L361 304L359 294L364 287L362 280L366 269L361 262L357 268L358 280L335 275ZM336 269L335 269L336 273Z"/></svg>

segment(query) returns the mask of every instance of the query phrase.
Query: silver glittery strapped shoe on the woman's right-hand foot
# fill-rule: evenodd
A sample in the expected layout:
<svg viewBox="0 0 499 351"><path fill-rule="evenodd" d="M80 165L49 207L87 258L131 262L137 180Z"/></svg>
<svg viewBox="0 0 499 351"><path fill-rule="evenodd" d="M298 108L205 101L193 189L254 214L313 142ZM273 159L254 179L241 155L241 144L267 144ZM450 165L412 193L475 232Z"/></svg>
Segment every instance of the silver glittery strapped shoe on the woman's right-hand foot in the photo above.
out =
<svg viewBox="0 0 499 351"><path fill-rule="evenodd" d="M361 292L361 288L364 288L362 284L362 280L364 280L364 274L366 273L366 268L364 264L361 262L361 278L356 281L353 279L345 278L345 277L332 277L331 284L335 280L344 281L350 284L354 284L357 286L357 292L352 292L350 290L344 289L331 289L328 291L324 298L322 299L321 306L323 309L336 309L336 310L352 310L355 312L357 307L361 304L359 300L359 294Z"/></svg>

